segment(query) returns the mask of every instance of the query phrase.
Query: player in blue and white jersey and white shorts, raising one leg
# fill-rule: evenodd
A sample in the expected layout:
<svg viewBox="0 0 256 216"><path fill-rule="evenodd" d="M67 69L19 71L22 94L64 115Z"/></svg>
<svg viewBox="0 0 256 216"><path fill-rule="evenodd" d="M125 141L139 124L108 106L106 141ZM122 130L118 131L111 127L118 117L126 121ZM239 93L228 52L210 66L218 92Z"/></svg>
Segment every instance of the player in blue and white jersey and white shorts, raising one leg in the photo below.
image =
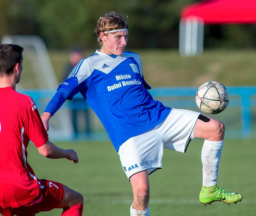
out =
<svg viewBox="0 0 256 216"><path fill-rule="evenodd" d="M49 119L64 101L80 92L108 132L131 181L131 216L149 216L148 175L161 169L164 148L185 153L193 138L204 139L200 202L206 205L241 201L241 194L217 186L223 123L154 100L143 77L140 56L124 51L128 25L120 14L109 12L101 16L95 32L101 49L81 59L60 84L41 116L46 130Z"/></svg>

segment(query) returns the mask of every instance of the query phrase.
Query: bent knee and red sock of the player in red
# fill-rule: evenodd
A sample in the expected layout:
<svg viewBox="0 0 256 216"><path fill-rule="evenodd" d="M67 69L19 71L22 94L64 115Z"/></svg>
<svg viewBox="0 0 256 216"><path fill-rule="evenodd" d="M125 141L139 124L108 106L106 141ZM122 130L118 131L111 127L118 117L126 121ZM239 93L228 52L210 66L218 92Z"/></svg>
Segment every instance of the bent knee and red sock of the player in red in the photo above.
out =
<svg viewBox="0 0 256 216"><path fill-rule="evenodd" d="M83 196L62 184L64 196L57 208L63 208L62 216L82 216Z"/></svg>

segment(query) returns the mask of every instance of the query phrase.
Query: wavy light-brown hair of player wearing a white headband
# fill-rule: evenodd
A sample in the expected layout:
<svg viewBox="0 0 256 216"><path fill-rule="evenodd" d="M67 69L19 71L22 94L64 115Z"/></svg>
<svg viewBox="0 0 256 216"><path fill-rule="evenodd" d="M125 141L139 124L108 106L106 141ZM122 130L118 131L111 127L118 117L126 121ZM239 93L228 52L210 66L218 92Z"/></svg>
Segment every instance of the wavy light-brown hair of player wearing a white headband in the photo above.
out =
<svg viewBox="0 0 256 216"><path fill-rule="evenodd" d="M94 28L94 32L97 35L97 40L102 46L102 40L100 39L100 32L107 32L111 30L117 30L117 29L128 29L128 24L126 23L124 17L114 11L108 12L104 15L102 15L98 22L96 27ZM111 34L115 34L116 32L113 32ZM109 33L105 33L105 35L108 35Z"/></svg>

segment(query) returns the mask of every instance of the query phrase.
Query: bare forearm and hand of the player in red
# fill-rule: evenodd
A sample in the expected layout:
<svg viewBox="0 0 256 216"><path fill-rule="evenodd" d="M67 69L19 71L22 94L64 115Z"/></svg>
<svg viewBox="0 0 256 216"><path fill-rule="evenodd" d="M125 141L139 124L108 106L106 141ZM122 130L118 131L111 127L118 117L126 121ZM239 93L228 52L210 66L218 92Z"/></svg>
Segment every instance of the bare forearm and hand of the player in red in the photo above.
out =
<svg viewBox="0 0 256 216"><path fill-rule="evenodd" d="M55 146L49 140L41 147L37 148L38 152L47 158L58 159L67 158L73 163L78 163L78 156L74 149L63 149Z"/></svg>

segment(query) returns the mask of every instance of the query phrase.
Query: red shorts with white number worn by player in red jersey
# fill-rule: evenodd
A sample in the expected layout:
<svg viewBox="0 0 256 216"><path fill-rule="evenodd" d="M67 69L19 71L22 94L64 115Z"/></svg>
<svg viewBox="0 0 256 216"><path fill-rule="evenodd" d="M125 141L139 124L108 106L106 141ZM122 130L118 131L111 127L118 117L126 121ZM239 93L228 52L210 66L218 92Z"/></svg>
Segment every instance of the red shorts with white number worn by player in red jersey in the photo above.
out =
<svg viewBox="0 0 256 216"><path fill-rule="evenodd" d="M42 189L43 191L40 193L39 198L18 208L8 207L1 209L0 207L0 212L3 214L3 216L48 212L56 208L64 196L64 189L62 184L46 179L41 179L40 182L41 185L44 185L44 189Z"/></svg>

